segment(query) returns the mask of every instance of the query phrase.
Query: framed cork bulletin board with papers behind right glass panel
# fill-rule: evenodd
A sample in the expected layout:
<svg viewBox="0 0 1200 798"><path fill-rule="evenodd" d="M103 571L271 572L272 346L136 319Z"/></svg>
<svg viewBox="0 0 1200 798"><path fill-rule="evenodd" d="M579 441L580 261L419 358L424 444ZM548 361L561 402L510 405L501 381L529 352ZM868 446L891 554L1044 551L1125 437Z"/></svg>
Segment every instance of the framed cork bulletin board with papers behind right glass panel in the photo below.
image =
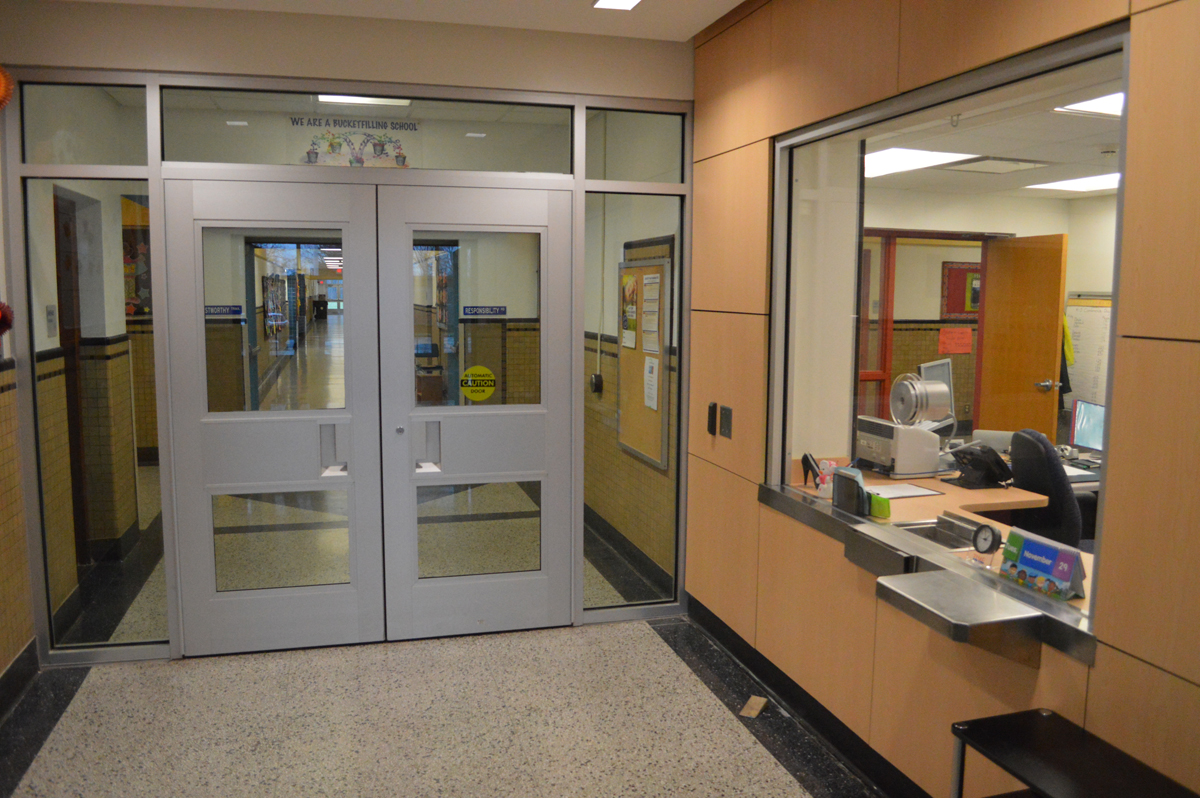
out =
<svg viewBox="0 0 1200 798"><path fill-rule="evenodd" d="M626 241L617 281L617 442L658 468L668 461L673 258L674 236Z"/></svg>

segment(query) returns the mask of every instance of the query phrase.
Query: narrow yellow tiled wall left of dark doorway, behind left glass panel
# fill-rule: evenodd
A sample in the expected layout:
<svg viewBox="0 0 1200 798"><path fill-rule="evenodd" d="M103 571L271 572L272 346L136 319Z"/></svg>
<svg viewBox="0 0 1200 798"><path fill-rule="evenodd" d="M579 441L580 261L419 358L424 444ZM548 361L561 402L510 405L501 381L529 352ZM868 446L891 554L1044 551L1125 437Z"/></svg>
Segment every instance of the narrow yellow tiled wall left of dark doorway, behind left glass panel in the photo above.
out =
<svg viewBox="0 0 1200 798"><path fill-rule="evenodd" d="M67 432L67 383L62 358L37 364L37 438L42 479L50 607L58 610L78 584L71 443Z"/></svg>

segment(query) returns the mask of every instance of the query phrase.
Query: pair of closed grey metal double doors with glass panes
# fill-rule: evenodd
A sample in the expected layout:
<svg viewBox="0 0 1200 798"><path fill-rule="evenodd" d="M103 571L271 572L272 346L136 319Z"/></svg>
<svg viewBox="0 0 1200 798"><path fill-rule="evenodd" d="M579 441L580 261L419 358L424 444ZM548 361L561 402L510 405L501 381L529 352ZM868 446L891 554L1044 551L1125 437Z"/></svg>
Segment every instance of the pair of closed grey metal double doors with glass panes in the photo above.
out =
<svg viewBox="0 0 1200 798"><path fill-rule="evenodd" d="M569 623L570 193L167 211L184 653Z"/></svg>

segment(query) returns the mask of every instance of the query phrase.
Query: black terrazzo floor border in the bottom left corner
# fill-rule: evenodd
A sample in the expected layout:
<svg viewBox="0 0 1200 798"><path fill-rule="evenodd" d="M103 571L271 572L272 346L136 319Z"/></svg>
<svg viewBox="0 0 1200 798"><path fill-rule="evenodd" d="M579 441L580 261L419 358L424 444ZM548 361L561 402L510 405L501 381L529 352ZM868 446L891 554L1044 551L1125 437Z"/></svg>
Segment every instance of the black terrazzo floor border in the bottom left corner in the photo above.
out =
<svg viewBox="0 0 1200 798"><path fill-rule="evenodd" d="M90 670L42 671L12 713L0 722L0 798L8 798L17 790Z"/></svg>

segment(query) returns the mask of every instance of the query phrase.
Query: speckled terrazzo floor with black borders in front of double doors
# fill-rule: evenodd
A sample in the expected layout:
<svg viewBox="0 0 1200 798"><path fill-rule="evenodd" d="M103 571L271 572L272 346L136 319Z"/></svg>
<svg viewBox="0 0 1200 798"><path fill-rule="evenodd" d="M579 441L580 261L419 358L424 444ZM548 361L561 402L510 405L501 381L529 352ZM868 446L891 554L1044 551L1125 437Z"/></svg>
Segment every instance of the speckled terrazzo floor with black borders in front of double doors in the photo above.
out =
<svg viewBox="0 0 1200 798"><path fill-rule="evenodd" d="M752 692L682 618L65 668L0 796L875 794Z"/></svg>

